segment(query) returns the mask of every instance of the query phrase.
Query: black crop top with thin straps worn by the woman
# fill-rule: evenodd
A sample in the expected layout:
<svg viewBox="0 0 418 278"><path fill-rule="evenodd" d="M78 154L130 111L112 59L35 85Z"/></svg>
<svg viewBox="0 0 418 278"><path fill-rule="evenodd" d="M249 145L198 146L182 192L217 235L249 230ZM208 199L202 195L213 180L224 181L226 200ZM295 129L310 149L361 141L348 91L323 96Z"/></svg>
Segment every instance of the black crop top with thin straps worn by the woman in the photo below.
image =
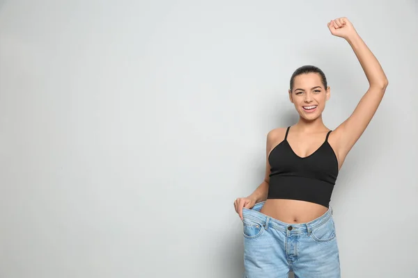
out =
<svg viewBox="0 0 418 278"><path fill-rule="evenodd" d="M268 155L270 182L268 199L297 199L329 207L332 190L338 177L338 161L334 150L325 142L313 154L300 157L284 140Z"/></svg>

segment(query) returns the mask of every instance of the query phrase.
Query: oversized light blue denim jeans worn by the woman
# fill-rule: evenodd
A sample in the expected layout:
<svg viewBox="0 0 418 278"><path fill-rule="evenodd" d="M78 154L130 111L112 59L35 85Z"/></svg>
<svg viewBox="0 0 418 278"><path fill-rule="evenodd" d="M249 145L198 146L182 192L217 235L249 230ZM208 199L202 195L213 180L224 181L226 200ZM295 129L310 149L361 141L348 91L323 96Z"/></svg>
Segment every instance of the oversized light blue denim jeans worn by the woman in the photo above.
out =
<svg viewBox="0 0 418 278"><path fill-rule="evenodd" d="M307 223L281 222L260 212L263 204L244 208L245 278L340 278L339 249L332 208Z"/></svg>

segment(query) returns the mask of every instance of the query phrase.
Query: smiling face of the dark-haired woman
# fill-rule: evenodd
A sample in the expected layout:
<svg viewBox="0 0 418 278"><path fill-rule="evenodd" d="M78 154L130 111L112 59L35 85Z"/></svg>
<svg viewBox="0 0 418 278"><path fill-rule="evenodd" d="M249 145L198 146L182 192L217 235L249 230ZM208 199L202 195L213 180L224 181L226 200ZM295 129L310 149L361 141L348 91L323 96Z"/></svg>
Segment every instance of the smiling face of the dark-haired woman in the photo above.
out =
<svg viewBox="0 0 418 278"><path fill-rule="evenodd" d="M330 87L324 88L320 75L314 72L300 74L295 77L293 91L289 90L289 98L296 111L306 120L315 120L330 99Z"/></svg>

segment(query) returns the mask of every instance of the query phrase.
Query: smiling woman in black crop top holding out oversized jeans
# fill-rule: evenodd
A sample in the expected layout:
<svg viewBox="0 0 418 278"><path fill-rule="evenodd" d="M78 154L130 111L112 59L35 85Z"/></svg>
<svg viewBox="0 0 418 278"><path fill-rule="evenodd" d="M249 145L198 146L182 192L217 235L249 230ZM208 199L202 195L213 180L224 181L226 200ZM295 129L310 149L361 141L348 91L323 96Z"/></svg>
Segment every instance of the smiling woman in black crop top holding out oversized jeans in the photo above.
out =
<svg viewBox="0 0 418 278"><path fill-rule="evenodd" d="M265 180L234 202L243 222L245 277L341 277L330 198L339 170L366 129L388 85L385 72L351 22L327 24L332 35L353 48L369 90L350 117L334 131L323 124L330 88L321 70L297 69L289 98L300 119L267 136Z"/></svg>

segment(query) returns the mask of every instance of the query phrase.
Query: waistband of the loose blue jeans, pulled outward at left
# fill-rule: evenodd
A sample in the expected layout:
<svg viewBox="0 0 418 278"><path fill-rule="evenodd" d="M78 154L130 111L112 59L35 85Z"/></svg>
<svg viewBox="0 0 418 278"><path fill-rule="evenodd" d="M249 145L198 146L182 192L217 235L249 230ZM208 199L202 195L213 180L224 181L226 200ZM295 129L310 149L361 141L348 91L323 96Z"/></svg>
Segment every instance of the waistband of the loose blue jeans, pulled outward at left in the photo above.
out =
<svg viewBox="0 0 418 278"><path fill-rule="evenodd" d="M277 220L275 218L272 218L268 215L265 215L264 213L261 213L260 210L263 207L264 202L257 203L253 206L253 208L242 208L242 216L243 218L247 218L249 220L254 220L256 222L259 222L265 229L268 229L268 227L272 227L274 229L280 230L280 231L291 231L293 233L298 232L308 232L310 234L311 229L315 229L316 227L319 227L321 224L324 224L330 218L332 218L332 207L329 206L328 210L323 214L320 215L320 217L311 220L306 223L286 223L282 222L280 220ZM290 228L291 227L291 228Z"/></svg>

